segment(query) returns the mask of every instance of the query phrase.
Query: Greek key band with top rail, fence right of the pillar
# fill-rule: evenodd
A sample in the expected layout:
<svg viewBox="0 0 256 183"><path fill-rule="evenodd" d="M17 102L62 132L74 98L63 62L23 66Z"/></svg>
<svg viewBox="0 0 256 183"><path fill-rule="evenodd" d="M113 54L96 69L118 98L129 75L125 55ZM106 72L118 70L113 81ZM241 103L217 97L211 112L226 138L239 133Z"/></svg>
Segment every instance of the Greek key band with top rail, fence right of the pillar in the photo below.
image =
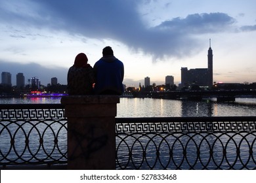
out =
<svg viewBox="0 0 256 183"><path fill-rule="evenodd" d="M116 133L256 131L255 116L120 118Z"/></svg>

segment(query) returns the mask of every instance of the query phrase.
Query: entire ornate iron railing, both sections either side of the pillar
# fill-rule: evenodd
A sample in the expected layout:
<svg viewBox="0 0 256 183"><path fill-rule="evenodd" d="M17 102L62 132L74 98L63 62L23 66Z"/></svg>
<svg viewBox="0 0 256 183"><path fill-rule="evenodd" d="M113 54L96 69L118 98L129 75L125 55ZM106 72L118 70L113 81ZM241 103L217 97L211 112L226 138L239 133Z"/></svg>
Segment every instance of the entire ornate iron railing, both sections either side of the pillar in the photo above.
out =
<svg viewBox="0 0 256 183"><path fill-rule="evenodd" d="M0 105L3 169L65 165L66 138L63 105ZM255 139L256 116L116 118L116 169L256 169Z"/></svg>

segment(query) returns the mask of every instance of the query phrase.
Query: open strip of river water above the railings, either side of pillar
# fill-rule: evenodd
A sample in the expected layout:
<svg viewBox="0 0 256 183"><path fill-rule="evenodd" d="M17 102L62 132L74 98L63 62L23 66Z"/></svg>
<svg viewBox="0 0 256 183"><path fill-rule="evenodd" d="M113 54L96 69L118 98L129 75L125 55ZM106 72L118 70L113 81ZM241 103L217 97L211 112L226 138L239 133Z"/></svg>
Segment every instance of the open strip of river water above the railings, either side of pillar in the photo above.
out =
<svg viewBox="0 0 256 183"><path fill-rule="evenodd" d="M5 98L0 104L60 103L60 97ZM234 103L203 101L120 98L118 118L135 117L193 117L193 116L255 116L256 98L236 98Z"/></svg>

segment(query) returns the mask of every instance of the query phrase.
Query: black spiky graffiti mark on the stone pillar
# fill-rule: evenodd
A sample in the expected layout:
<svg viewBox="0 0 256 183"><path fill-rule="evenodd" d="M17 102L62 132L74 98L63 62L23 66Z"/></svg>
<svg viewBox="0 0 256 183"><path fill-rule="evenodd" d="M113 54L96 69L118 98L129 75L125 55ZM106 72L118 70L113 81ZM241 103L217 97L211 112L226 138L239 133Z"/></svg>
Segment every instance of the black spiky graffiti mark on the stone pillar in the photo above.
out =
<svg viewBox="0 0 256 183"><path fill-rule="evenodd" d="M100 150L108 142L108 135L98 135L95 133L95 126L91 125L85 133L80 133L75 129L70 130L70 133L77 142L74 151L69 155L71 160L84 157L89 159L91 154ZM80 153L77 153L80 152Z"/></svg>

